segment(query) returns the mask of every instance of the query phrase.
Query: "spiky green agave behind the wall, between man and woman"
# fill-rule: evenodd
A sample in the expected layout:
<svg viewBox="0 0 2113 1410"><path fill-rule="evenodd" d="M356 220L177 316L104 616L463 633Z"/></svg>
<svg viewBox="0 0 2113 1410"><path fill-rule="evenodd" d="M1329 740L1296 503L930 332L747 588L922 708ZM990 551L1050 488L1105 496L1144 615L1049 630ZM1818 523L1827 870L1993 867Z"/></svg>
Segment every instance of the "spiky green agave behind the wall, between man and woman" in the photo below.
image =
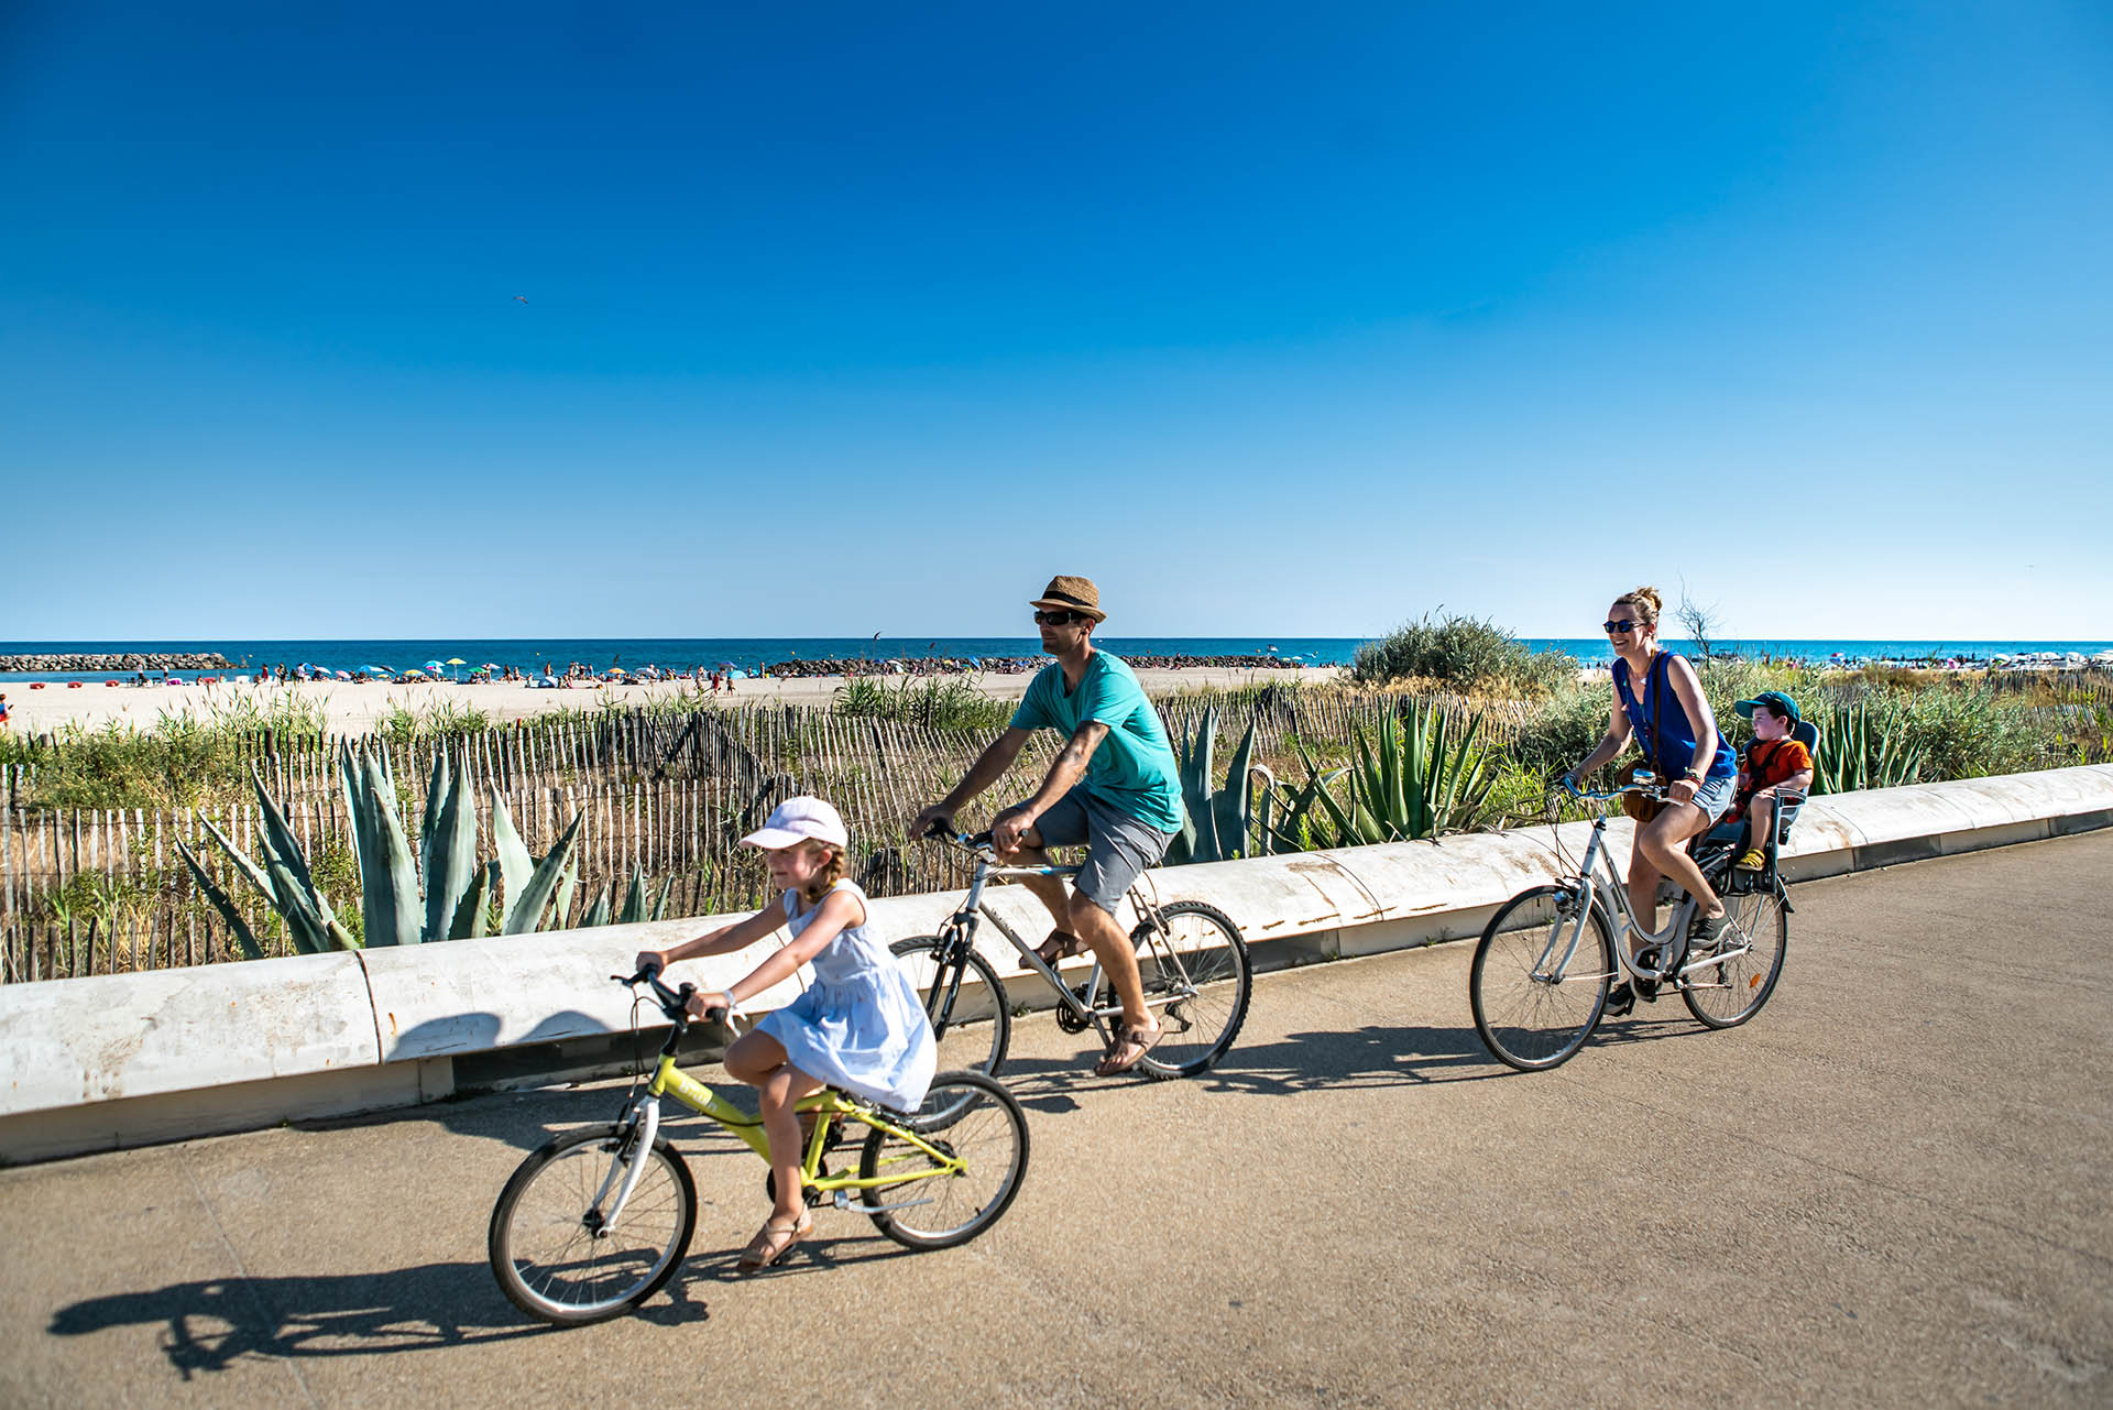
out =
<svg viewBox="0 0 2113 1410"><path fill-rule="evenodd" d="M1314 801L1331 824L1314 827L1316 846L1354 848L1376 841L1411 841L1452 833L1469 822L1490 797L1496 774L1490 750L1475 742L1481 715L1454 738L1454 721L1441 708L1407 702L1407 727L1397 727L1392 710L1380 721L1378 744L1367 744L1357 729L1357 765L1350 778L1350 805L1344 808L1325 782L1314 789ZM1308 763L1312 774L1312 763ZM1312 786L1319 776L1310 778ZM1316 818L1319 822L1319 818ZM1329 833L1321 837L1321 833Z"/></svg>

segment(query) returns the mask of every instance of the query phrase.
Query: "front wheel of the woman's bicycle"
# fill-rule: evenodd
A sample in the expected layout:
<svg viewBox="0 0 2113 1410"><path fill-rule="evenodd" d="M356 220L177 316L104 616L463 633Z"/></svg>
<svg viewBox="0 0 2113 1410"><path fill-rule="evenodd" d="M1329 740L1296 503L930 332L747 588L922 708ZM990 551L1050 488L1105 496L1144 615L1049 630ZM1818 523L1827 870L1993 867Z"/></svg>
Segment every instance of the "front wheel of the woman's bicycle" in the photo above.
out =
<svg viewBox="0 0 2113 1410"><path fill-rule="evenodd" d="M1562 977L1547 977L1570 945L1578 905L1578 892L1562 886L1523 890L1498 907L1475 943L1466 977L1475 1032L1490 1053L1519 1072L1568 1061L1606 1008L1616 970L1614 936L1600 907L1585 913L1585 934Z"/></svg>

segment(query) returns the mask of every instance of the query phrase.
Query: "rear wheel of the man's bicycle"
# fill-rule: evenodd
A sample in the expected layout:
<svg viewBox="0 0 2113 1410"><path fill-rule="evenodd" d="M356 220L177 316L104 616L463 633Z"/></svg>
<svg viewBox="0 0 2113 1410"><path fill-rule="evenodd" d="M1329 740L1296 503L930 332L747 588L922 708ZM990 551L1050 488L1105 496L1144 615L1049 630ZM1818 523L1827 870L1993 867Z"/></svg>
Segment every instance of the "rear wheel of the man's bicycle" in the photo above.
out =
<svg viewBox="0 0 2113 1410"><path fill-rule="evenodd" d="M1255 970L1240 928L1223 911L1200 901L1175 901L1160 907L1160 920L1164 936L1149 920L1130 932L1145 1002L1158 1008L1166 1029L1137 1070L1154 1078L1185 1078L1223 1057L1240 1034ZM1158 1006L1162 996L1173 998Z"/></svg>

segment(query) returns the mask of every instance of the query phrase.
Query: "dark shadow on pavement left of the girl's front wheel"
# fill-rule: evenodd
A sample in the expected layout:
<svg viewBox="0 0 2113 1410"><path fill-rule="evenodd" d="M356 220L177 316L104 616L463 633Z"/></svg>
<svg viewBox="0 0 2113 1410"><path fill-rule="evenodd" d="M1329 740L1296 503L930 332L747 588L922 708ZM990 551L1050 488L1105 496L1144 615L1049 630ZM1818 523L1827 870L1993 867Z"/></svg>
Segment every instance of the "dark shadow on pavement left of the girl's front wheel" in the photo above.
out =
<svg viewBox="0 0 2113 1410"><path fill-rule="evenodd" d="M689 1319L706 1315L699 1302ZM46 1330L51 1336L91 1336L150 1323L163 1323L163 1353L184 1380L249 1357L442 1351L556 1330L528 1321L507 1302L484 1262L169 1283L74 1302L53 1313Z"/></svg>

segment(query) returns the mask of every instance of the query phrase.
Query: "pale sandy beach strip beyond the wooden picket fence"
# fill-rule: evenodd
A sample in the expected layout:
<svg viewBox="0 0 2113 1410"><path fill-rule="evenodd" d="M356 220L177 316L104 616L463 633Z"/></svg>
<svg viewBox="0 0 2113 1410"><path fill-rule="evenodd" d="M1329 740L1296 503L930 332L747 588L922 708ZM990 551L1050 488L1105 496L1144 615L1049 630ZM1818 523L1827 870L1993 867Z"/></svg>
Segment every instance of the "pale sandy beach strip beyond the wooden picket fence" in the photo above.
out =
<svg viewBox="0 0 2113 1410"><path fill-rule="evenodd" d="M1183 670L1139 670L1137 679L1152 695L1207 685L1264 685L1270 681L1316 685L1333 681L1335 666L1312 666L1304 670L1240 670L1219 666L1192 666ZM915 676L877 676L890 689ZM993 700L1018 700L1027 691L1031 674L991 676L938 676L968 679L976 689ZM792 681L737 681L731 695L718 700L742 704L756 700L784 700L790 704L820 706L841 689L843 676L801 676ZM353 685L344 681L296 683L296 685L101 685L87 683L70 689L63 683L44 683L32 691L27 681L0 683L13 710L11 729L17 734L53 734L61 725L78 723L97 729L110 721L137 729L152 729L165 715L190 712L199 721L245 706L268 706L273 698L298 695L304 702L319 702L336 734L361 734L397 706L429 712L444 704L482 710L492 723L532 719L551 710L594 710L604 702L615 706L647 704L693 691L693 681L657 681L653 685L594 685L575 689L528 689L518 681L490 685L454 685L448 681L418 681L408 685Z"/></svg>

